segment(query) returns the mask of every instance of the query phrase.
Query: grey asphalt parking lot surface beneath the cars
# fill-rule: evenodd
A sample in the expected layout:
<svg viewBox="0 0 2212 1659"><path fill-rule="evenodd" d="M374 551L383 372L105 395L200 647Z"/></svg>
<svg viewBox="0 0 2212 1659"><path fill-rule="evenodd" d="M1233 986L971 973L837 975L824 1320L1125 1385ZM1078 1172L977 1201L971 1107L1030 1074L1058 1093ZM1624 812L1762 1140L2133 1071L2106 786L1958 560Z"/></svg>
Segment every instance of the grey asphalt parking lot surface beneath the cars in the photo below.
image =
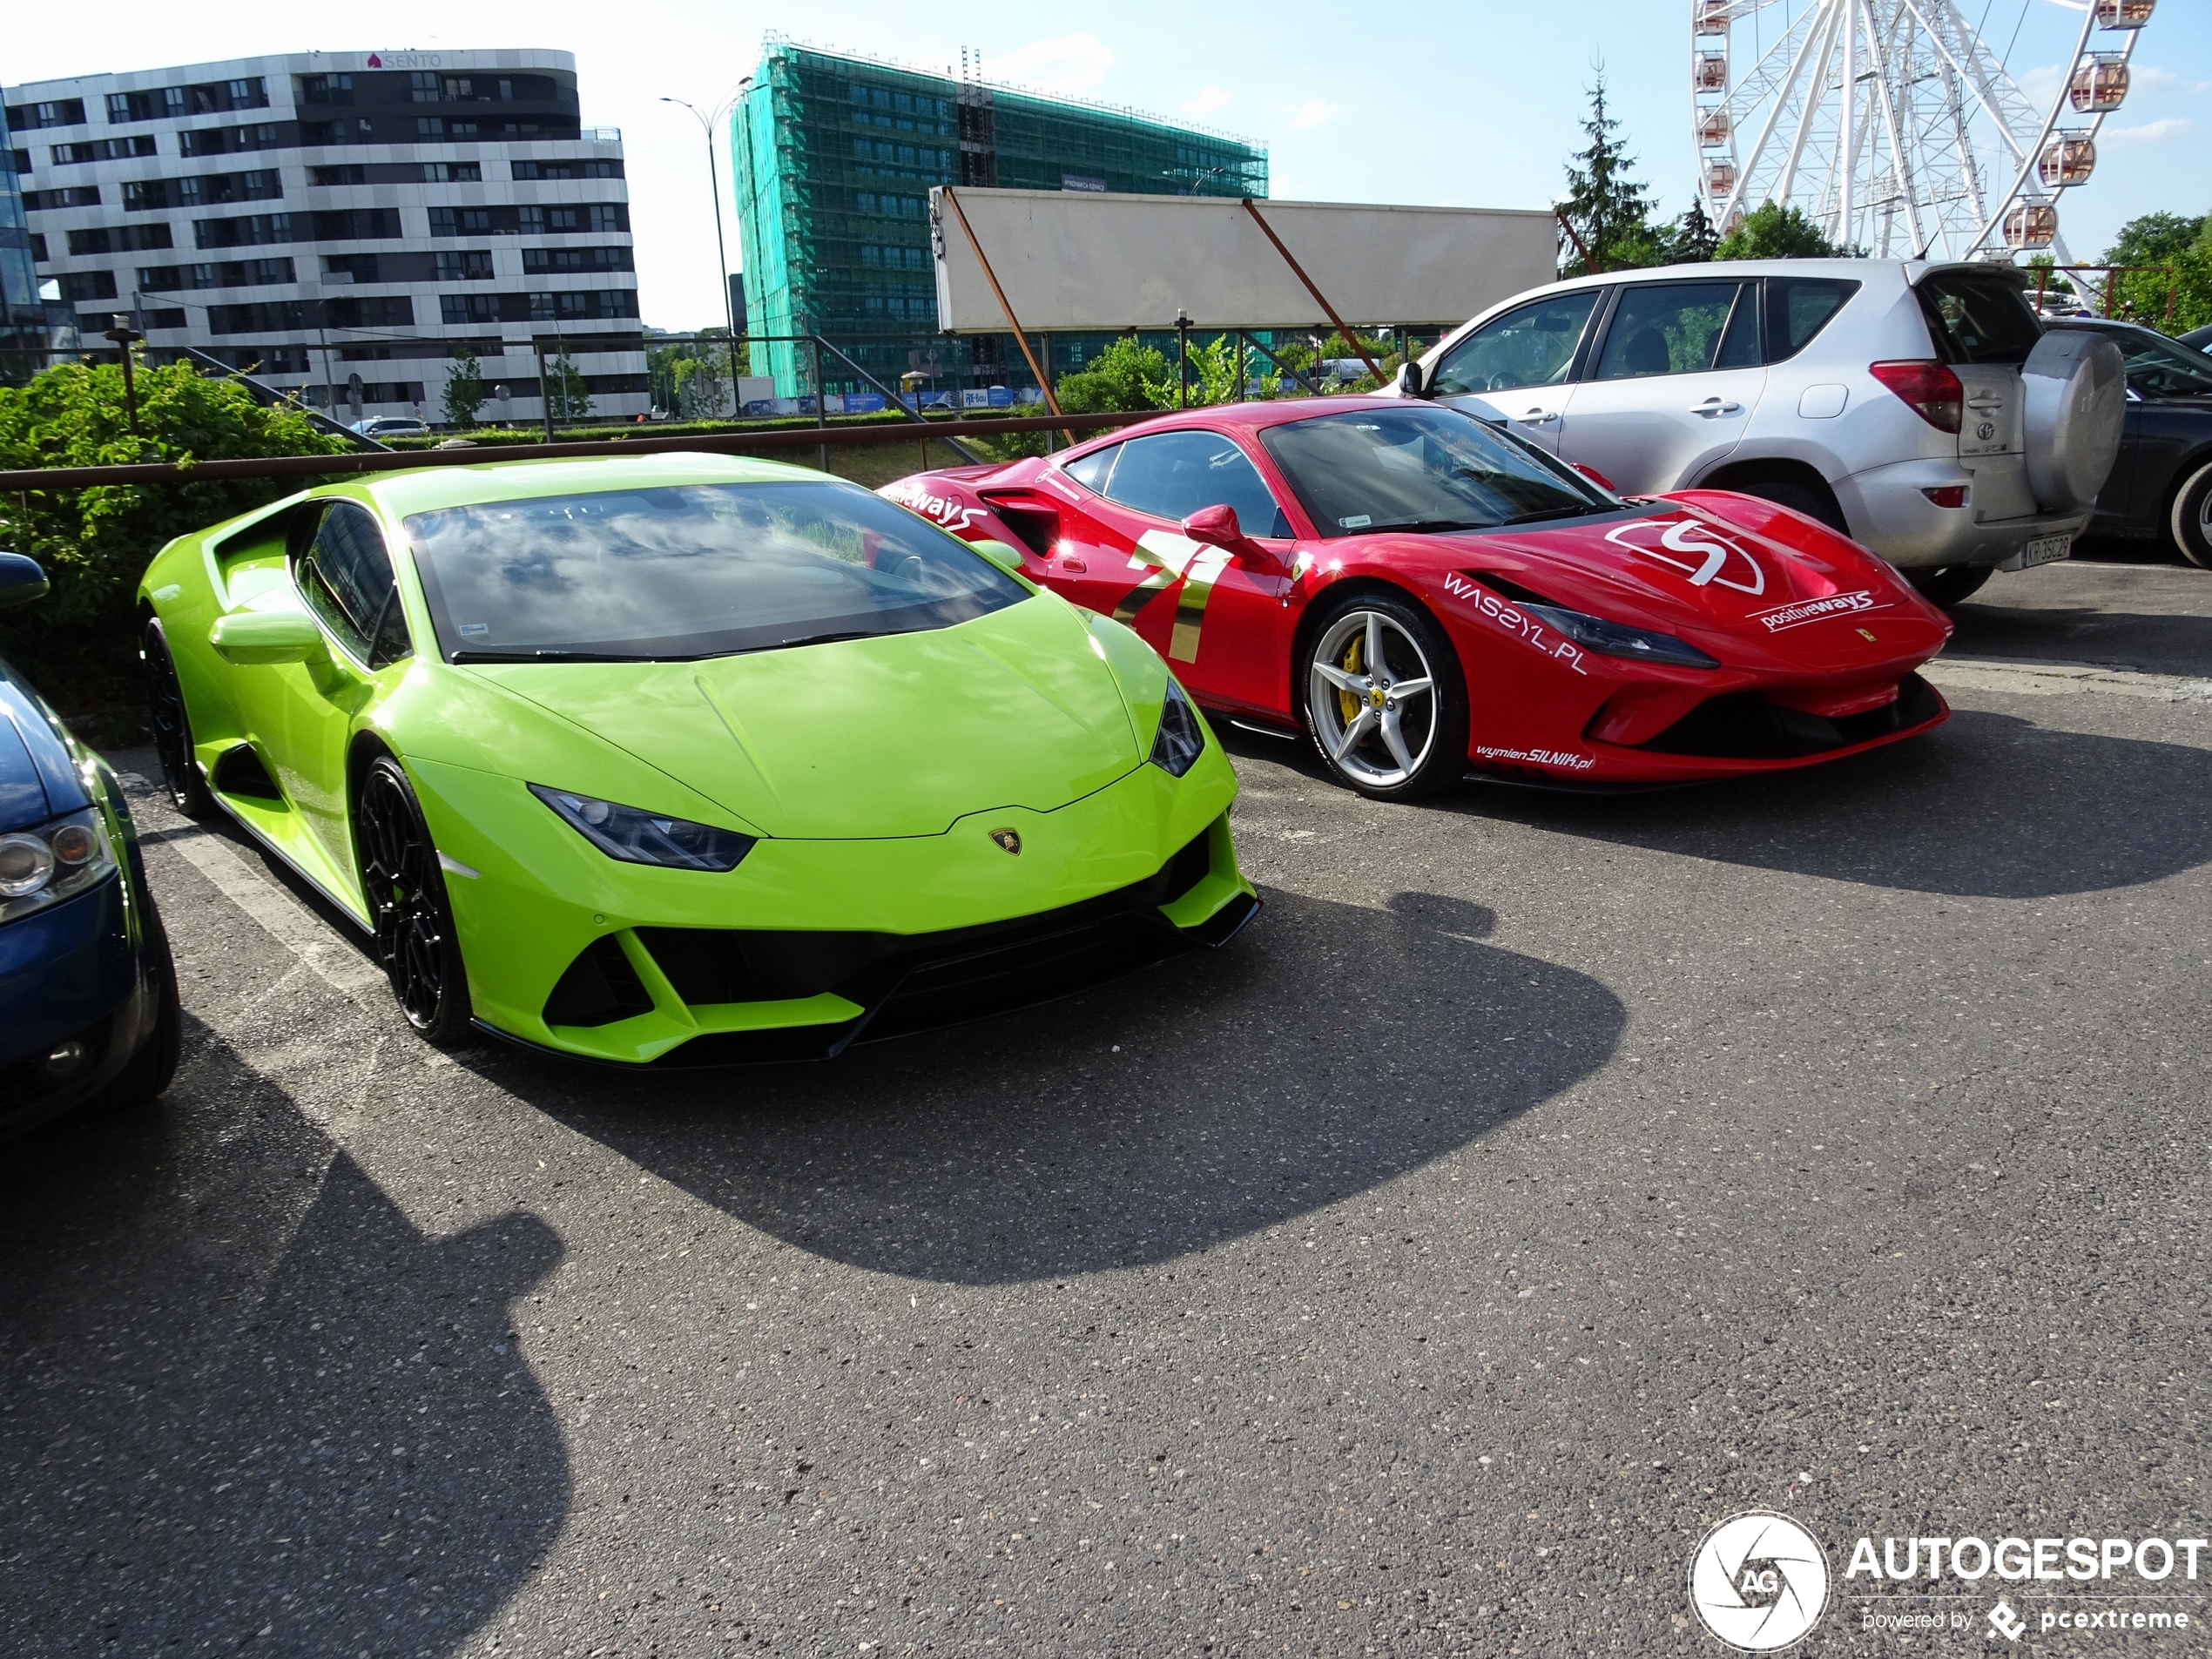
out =
<svg viewBox="0 0 2212 1659"><path fill-rule="evenodd" d="M139 796L186 1062L0 1152L7 1652L1719 1652L1741 1509L2205 1535L2212 573L1982 597L1798 776L1230 732L1232 949L814 1068L434 1055ZM2004 1650L1867 1588L1803 1652Z"/></svg>

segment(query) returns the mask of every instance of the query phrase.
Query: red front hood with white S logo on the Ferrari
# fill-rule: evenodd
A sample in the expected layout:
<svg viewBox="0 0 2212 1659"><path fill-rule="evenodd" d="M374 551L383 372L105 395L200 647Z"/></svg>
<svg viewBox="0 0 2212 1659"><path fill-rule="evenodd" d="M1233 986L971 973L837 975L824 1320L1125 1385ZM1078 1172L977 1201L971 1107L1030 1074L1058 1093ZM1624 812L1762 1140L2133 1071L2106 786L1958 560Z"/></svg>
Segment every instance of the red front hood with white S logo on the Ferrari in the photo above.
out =
<svg viewBox="0 0 2212 1659"><path fill-rule="evenodd" d="M1796 546L1699 507L1650 502L1626 515L1471 546L1522 586L1619 622L1772 637L1887 611L1944 626L1882 560L1836 535L1820 542Z"/></svg>

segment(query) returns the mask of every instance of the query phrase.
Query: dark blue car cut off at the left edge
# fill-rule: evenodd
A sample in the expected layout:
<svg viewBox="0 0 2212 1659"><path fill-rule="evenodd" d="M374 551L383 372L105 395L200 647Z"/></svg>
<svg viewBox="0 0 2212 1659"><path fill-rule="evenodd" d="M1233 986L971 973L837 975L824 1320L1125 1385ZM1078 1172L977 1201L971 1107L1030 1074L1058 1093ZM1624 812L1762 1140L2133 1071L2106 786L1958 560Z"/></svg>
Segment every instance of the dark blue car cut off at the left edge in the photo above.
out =
<svg viewBox="0 0 2212 1659"><path fill-rule="evenodd" d="M44 593L33 560L0 553L0 608ZM153 1099L181 1035L122 785L0 661L0 1137Z"/></svg>

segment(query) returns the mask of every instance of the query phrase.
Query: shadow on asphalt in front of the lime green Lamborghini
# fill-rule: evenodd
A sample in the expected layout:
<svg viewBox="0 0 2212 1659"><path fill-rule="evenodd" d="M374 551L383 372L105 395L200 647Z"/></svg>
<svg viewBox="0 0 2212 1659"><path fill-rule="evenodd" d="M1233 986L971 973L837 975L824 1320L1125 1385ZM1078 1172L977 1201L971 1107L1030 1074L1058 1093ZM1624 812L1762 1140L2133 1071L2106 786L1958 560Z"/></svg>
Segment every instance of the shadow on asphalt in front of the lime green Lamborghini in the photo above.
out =
<svg viewBox="0 0 2212 1659"><path fill-rule="evenodd" d="M995 1285L1296 1223L1571 1088L1626 1022L1597 980L1484 945L1480 905L1265 900L1225 951L832 1064L462 1064L792 1245Z"/></svg>

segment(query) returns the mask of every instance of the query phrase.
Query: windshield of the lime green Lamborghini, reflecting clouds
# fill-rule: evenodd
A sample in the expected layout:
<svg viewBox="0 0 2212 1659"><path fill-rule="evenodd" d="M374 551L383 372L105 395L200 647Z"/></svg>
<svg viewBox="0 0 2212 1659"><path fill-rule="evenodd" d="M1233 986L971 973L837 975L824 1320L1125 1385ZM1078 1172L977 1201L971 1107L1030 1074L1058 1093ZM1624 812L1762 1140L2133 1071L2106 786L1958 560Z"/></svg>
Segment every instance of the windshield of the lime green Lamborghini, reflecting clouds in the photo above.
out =
<svg viewBox="0 0 2212 1659"><path fill-rule="evenodd" d="M681 661L949 628L1029 588L852 484L666 484L407 518L449 661Z"/></svg>

